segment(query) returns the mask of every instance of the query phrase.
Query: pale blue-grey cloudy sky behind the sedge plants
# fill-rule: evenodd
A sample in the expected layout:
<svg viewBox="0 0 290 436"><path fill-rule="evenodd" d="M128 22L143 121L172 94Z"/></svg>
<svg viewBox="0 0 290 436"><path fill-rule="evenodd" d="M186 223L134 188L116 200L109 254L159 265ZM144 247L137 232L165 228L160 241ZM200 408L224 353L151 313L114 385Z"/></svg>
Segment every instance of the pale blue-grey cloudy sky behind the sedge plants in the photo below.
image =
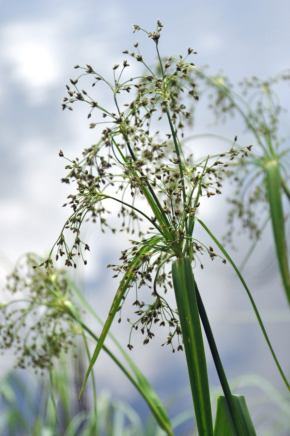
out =
<svg viewBox="0 0 290 436"><path fill-rule="evenodd" d="M267 3L23 0L0 1L0 11L2 285L21 254L32 251L47 255L67 218L68 211L62 204L71 189L60 183L65 170L59 150L74 158L96 142L97 132L88 129L86 108L74 112L61 109L65 84L69 78L76 77L76 70L72 68L75 64L89 63L111 78L113 65L123 62L122 51L131 50L136 40L139 40L143 57L154 62L152 46L143 34L132 34L132 24L154 31L159 18L164 25L160 42L163 55L186 53L191 46L198 52L194 57L197 66L207 64L212 73L224 71L234 84L244 77L267 78L289 68L287 0ZM140 65L133 65L132 61L132 75L141 73ZM101 94L97 101L102 97L105 95ZM282 106L290 109L289 87L281 88L279 97ZM197 106L193 133L205 132L213 122L203 102L198 104L200 112ZM282 118L286 135L290 134L288 117L283 115ZM229 138L237 134L240 143L245 145L250 141L238 121L217 125L215 131ZM210 143L205 145L211 146ZM202 153L198 145L196 147L196 154ZM204 216L208 226L221 235L226 202L221 197L216 200L205 206ZM109 234L103 235L97 225L89 227L87 232L91 246L88 265L78 268L75 277L97 313L105 319L116 286L105 266L116 261L120 250L127 247L126 237L121 234L111 239ZM238 263L248 245L249 241L243 238L240 251L234 253ZM275 273L276 265L272 273L266 274L273 253L270 226L260 247L245 268L245 277L264 314L277 356L285 372L290 374L287 335L290 317L286 298ZM198 270L196 278L228 377L257 373L283 389L249 301L231 268L226 266L225 272L224 265L214 262L206 265L206 272ZM128 305L128 313L130 311ZM272 322L277 319L280 322ZM127 323L115 323L113 331L124 345L128 343ZM131 353L163 399L188 385L184 354L173 355L170 349L160 347L165 334L156 337L146 348L141 345L141 336L136 334ZM215 386L218 380L209 353L208 357L209 381ZM0 369L4 371L6 367L3 359ZM112 389L114 395L136 405L138 412L146 415L147 409L138 394L105 356L100 356L95 372L100 389ZM181 401L179 407L182 409L185 404Z"/></svg>

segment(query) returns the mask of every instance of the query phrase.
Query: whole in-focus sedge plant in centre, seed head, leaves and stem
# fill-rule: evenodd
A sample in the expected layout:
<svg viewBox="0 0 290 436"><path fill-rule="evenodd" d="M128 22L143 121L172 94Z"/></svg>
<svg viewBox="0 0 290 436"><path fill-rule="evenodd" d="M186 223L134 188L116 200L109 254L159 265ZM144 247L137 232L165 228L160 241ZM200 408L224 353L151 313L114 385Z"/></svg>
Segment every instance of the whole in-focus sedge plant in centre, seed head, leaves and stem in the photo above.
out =
<svg viewBox="0 0 290 436"><path fill-rule="evenodd" d="M95 336L97 345L84 377L80 399L97 357L105 347L105 339L115 316L118 314L120 322L126 296L134 292L136 299L133 305L136 306L137 319L128 319L131 333L140 330L146 345L154 337L154 327L167 325L169 334L164 344L170 345L173 352L176 348L177 351L185 351L198 434L255 435L244 398L232 395L229 388L193 274L196 265L202 266L202 254L207 254L211 260L220 259L224 264L228 261L234 267L251 300L278 370L290 389L239 269L206 223L198 218L198 208L202 207L204 198L210 199L222 193L221 181L226 168L237 156L246 159L251 146L240 148L235 138L229 149L215 156L207 156L196 162L192 155L187 155L183 146L183 129L191 113L187 111L183 97L188 94L193 103L198 100L191 78L191 71L195 67L191 58L195 52L189 47L185 57L169 57L163 62L159 52L162 27L159 20L154 32L134 25L134 32L143 31L152 41L158 58L158 66L150 67L139 51L138 42L134 44L134 51L123 52L146 69L146 74L140 77L132 78L129 75L128 60L124 60L122 65L113 66L112 83L89 64L86 67L75 66L81 74L70 79L70 84L66 85L68 96L64 98L63 109L72 110L72 104L77 101L86 103L89 107L88 118L93 120L90 128L98 130L101 127L101 133L97 142L84 150L81 159L71 160L64 157L63 151L59 153L66 159L68 170L62 181L76 185L76 192L70 194L64 203L64 206L72 209L70 217L48 258L37 266L45 266L49 277L54 271L52 255L55 255L56 260L64 258L68 267L77 266L77 257L86 265L85 252L90 247L82 238L84 222L98 221L102 231L109 230L115 234L107 205L110 206L112 202L118 204L121 230L131 233L130 245L122 250L118 264L108 265L113 268L113 277L119 279L119 284L101 335L98 338ZM80 83L83 76L92 78L92 92L82 89ZM101 84L112 93L113 111L94 97L96 88ZM132 93L134 98L128 102L124 96ZM100 120L96 112L100 114ZM162 130L164 125L167 126L164 127L164 135L154 131L156 121L162 124ZM148 226L144 230L145 223ZM205 229L218 252L196 239L195 226ZM68 234L72 234L72 239ZM36 268L36 265L33 266ZM151 289L153 301L142 301L139 296L142 287ZM166 291L170 288L174 290L177 309L170 307L166 300ZM69 312L69 316L77 319L79 325L88 332L80 324L81 320L72 307L63 300L62 305L63 311ZM218 400L214 426L201 324L224 392L224 396ZM94 337L92 331L89 334ZM53 342L49 343L48 354L51 355ZM133 348L131 334L128 348ZM142 389L145 384L145 391L149 392L147 398L144 395L145 400L149 406L151 401L151 410L156 413L161 427L168 435L172 435L170 422L163 409L160 409L155 393L146 385L141 374L138 373L136 377ZM135 383L137 389L138 383Z"/></svg>

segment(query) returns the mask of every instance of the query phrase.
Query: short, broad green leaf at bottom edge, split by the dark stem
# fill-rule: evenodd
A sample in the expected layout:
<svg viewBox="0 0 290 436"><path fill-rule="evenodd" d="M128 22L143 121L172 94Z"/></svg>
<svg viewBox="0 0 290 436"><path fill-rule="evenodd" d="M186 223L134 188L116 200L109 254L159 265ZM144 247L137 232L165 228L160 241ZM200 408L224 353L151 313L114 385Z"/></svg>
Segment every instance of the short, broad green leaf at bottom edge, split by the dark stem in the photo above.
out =
<svg viewBox="0 0 290 436"><path fill-rule="evenodd" d="M242 424L244 436L256 436L255 428L243 395L233 395L233 399ZM233 421L228 409L226 398L219 396L214 424L214 436L236 436Z"/></svg>

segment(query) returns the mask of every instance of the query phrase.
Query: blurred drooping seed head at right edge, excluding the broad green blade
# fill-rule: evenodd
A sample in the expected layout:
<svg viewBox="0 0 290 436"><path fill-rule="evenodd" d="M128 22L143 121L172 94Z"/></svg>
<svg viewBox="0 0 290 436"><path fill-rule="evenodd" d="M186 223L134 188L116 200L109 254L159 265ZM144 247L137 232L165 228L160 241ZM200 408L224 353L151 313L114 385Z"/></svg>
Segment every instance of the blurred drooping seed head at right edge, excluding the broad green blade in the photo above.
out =
<svg viewBox="0 0 290 436"><path fill-rule="evenodd" d="M247 231L251 239L258 240L268 221L266 218L262 222L261 217L268 215L269 210L266 175L269 161L278 162L282 190L290 199L287 186L289 148L280 129L280 115L285 109L281 107L275 89L282 82L290 82L290 70L264 80L244 78L239 83L241 93L235 91L228 78L221 74L210 76L206 71L195 68L191 70L190 78L197 83L200 93L209 91L209 109L217 122L226 122L229 117L238 115L252 135L255 153L246 160L243 155L240 156L226 174L233 189L228 199L231 208L225 240L232 242L232 235L237 234L237 221L240 221L243 233ZM252 145L247 148L251 150Z"/></svg>

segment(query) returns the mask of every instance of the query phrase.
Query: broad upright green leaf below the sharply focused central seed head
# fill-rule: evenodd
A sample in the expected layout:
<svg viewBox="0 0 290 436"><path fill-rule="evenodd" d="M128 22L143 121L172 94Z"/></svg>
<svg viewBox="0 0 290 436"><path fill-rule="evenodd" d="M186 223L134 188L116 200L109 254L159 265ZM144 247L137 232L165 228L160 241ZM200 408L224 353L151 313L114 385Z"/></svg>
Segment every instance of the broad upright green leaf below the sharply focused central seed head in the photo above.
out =
<svg viewBox="0 0 290 436"><path fill-rule="evenodd" d="M213 435L209 380L189 256L172 263L172 280L199 435Z"/></svg>

